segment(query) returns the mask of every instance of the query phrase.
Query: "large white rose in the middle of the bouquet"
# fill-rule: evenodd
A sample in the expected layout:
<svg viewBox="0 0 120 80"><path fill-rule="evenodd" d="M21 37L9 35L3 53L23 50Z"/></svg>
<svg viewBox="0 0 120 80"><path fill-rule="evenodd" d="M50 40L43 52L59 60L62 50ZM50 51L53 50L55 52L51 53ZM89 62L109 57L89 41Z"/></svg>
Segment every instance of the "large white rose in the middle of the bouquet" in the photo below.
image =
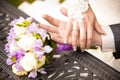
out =
<svg viewBox="0 0 120 80"><path fill-rule="evenodd" d="M34 44L35 37L31 35L22 35L20 40L17 42L18 46L23 50L28 51Z"/></svg>

